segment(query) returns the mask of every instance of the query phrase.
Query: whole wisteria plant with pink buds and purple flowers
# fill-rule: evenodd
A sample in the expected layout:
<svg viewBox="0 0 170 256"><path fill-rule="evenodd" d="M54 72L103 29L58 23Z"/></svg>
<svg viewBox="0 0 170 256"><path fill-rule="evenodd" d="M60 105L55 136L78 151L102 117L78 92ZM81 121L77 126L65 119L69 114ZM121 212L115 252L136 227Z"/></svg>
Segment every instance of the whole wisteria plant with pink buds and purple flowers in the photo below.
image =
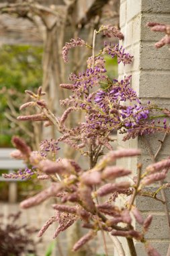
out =
<svg viewBox="0 0 170 256"><path fill-rule="evenodd" d="M42 141L38 152L32 151L23 139L13 137L13 145L17 150L11 155L24 160L30 167L4 176L30 179L36 174L38 179L51 180L50 187L21 203L21 207L26 209L42 203L49 197L57 199L58 203L52 205L54 216L42 226L38 236L42 236L53 222L58 222L53 236L56 238L60 232L81 220L83 228L89 231L75 243L73 251L77 251L95 238L97 232L102 232L105 255L108 255L108 252L104 237L105 233L108 233L119 255L126 255L117 238L124 236L132 256L136 255L134 240L144 244L148 255L159 256L160 254L146 240L146 232L153 217L148 215L143 219L135 205L135 199L138 195L144 195L164 203L157 194L161 189L169 187L169 183L161 185L153 193L147 192L144 188L165 179L170 159L151 164L144 170L142 164L138 164L138 177L133 178L130 176L131 170L114 164L118 158L138 156L140 150L113 150L111 135L113 131L118 131L124 134L125 141L138 135L169 133L166 117L169 117L170 111L151 102L142 104L130 86L130 75L120 80L108 77L105 55L116 57L118 63L122 62L124 65L132 63L133 56L126 53L119 44L112 45L109 42L105 42L103 49L95 53L95 40L99 33L108 38L116 36L120 40L124 39L117 28L110 25L101 26L98 31L94 31L92 46L78 38L71 39L71 42L67 42L62 49L65 62L69 60L70 49L75 46L92 49L92 56L87 59L87 70L78 74L71 73L70 84L60 84L63 90L71 91L71 96L60 102L67 108L62 117L56 117L51 113L43 99L45 92L42 92L41 87L37 93L26 90L31 100L22 105L20 110L36 107L37 113L19 116L17 119L43 121L44 126L54 125L60 136L57 139ZM83 112L84 120L70 129L66 121L75 111ZM160 121L159 117L164 119ZM82 156L88 157L89 168L84 170L83 166L73 159L58 158L57 152L62 143L69 144L81 152ZM120 206L116 204L116 199L122 195L127 197L127 200ZM141 226L139 230L133 225L134 218Z"/></svg>

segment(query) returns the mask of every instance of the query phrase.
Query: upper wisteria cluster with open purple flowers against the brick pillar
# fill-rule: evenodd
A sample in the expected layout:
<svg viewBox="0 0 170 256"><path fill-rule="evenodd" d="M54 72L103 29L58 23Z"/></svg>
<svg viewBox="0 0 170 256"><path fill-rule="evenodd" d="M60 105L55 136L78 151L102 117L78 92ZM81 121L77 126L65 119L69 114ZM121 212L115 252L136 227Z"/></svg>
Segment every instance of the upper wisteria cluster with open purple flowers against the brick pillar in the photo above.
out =
<svg viewBox="0 0 170 256"><path fill-rule="evenodd" d="M113 34L117 29L114 30L111 26L102 26L98 32L101 31L105 33L108 31L107 33ZM88 44L85 44L80 38L71 40L63 48L64 59L66 59L69 49L77 45ZM30 104L38 106L41 113L18 117L18 119L21 121L45 121L45 126L55 125L63 134L58 138L58 141L68 143L69 146L77 150L88 146L90 138L93 141L93 148L97 147L99 154L101 154L102 145L112 149L109 139L112 131L127 133L124 140L157 131L169 133L170 128L166 123L163 123L162 127L159 122L149 121L151 110L157 110L157 106L150 103L143 105L140 102L136 92L130 86L131 76L124 77L120 81L108 77L105 69L105 54L117 57L118 63L122 62L124 65L132 63L133 56L126 53L122 46L111 46L111 44L105 43L105 47L97 55L89 57L85 71L78 74L71 73L69 76L71 84L60 84L61 88L72 92L69 98L60 101L60 104L68 106L60 119L50 113L46 102L41 99L41 96L44 95L41 88L39 88L37 94L27 91L33 101L22 106L22 108L27 108ZM159 110L163 109L159 108ZM83 111L85 121L72 129L67 129L65 121L70 113L75 111ZM166 116L167 112L163 111Z"/></svg>

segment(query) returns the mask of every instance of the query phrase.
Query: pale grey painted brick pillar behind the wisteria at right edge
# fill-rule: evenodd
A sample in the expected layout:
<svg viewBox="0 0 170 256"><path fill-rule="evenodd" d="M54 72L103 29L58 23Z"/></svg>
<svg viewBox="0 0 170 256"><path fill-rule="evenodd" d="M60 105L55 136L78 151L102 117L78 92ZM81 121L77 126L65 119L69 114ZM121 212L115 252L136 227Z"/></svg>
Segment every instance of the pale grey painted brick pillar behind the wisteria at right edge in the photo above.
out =
<svg viewBox="0 0 170 256"><path fill-rule="evenodd" d="M152 103L161 104L161 106L170 106L170 55L168 46L157 50L155 42L162 37L161 33L150 32L146 27L146 22L169 23L170 1L169 0L120 0L120 28L124 33L123 46L134 55L132 65L120 64L119 75L132 74L132 88L136 90L142 102L151 100ZM160 145L159 139L161 135L150 135L146 139L151 144L153 151L156 152ZM127 162L119 162L118 164L128 165L128 168L134 170L136 174L136 162L142 162L143 167L151 163L151 158L146 150L146 146L142 139L132 139L122 142L122 136L118 135L118 144L123 148L140 148L142 156L134 158ZM158 159L167 158L169 156L170 136L167 137L165 146L161 150ZM167 179L170 181L170 179ZM157 185L155 185L157 186ZM152 188L151 188L152 189ZM170 193L166 191L168 199ZM153 246L158 249L162 256L167 253L169 246L169 229L162 203L158 203L154 199L146 199L146 197L138 197L136 205L142 211L144 216L153 214L153 223L147 238ZM169 205L170 210L170 205ZM125 241L123 241L125 243ZM137 255L145 256L144 247L136 243ZM128 255L128 249L126 247Z"/></svg>

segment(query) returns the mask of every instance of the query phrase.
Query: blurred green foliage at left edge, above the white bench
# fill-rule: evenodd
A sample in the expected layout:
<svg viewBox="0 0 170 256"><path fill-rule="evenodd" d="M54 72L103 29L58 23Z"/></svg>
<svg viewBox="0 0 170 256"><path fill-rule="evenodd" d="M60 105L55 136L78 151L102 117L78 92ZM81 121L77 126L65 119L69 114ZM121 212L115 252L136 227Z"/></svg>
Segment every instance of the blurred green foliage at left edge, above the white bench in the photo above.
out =
<svg viewBox="0 0 170 256"><path fill-rule="evenodd" d="M5 112L8 101L14 110L24 103L24 91L42 84L42 46L3 45L0 49L0 147L8 147L15 124ZM11 131L12 130L12 131Z"/></svg>

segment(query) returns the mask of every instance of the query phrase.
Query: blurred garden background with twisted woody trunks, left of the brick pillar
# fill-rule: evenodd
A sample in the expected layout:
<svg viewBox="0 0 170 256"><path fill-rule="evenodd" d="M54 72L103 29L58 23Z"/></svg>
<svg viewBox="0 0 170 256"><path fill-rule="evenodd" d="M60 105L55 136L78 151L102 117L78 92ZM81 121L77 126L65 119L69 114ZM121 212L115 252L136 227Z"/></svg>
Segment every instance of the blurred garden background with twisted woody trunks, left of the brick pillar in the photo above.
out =
<svg viewBox="0 0 170 256"><path fill-rule="evenodd" d="M19 106L28 100L24 91L36 91L42 86L47 92L49 108L59 116L64 111L59 100L69 96L69 92L60 90L59 84L68 81L69 73L85 70L86 60L91 56L91 51L77 47L71 51L69 64L66 65L61 56L62 46L71 38L78 37L92 44L93 30L103 24L119 27L119 8L119 0L0 1L0 240L8 237L7 234L13 230L13 239L8 237L8 243L12 248L15 247L19 229L11 228L13 223L20 226L23 234L19 238L22 243L21 248L18 246L20 251L16 249L11 252L11 248L7 248L4 254L1 252L1 246L4 246L2 242L0 256L72 255L71 247L79 237L79 226L73 226L67 235L62 234L57 241L52 241L54 227L51 227L44 234L43 240L38 241L36 229L39 230L53 215L50 201L22 211L20 216L17 214L19 202L38 193L46 185L36 179L4 181L1 174L24 168L22 162L10 158L13 150L12 135L26 139L33 150L38 150L42 139L57 136L54 127L44 129L39 122L32 124L17 121ZM99 36L96 51L103 47L105 40L104 36ZM118 43L115 39L112 42ZM116 59L105 57L105 61L108 75L117 78ZM77 123L77 118L72 116L68 125ZM65 157L75 158L75 152L68 146L63 148L63 154ZM22 227L23 224L28 226ZM7 245L7 241L5 244ZM103 256L102 247L101 243L96 242L74 255ZM111 246L110 255L112 254Z"/></svg>

